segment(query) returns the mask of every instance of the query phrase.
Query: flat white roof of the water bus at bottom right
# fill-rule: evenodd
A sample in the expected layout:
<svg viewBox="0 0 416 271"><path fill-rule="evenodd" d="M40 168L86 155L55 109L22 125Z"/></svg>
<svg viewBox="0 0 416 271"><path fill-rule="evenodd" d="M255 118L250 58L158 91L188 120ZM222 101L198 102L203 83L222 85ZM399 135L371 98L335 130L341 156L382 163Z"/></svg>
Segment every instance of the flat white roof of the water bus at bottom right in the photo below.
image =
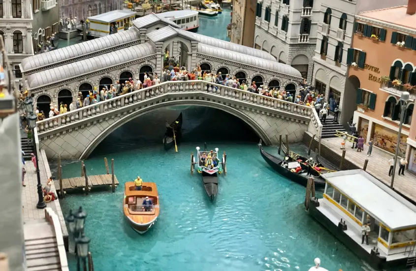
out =
<svg viewBox="0 0 416 271"><path fill-rule="evenodd" d="M390 231L416 228L416 206L366 171L344 170L322 176L327 186L330 184Z"/></svg>

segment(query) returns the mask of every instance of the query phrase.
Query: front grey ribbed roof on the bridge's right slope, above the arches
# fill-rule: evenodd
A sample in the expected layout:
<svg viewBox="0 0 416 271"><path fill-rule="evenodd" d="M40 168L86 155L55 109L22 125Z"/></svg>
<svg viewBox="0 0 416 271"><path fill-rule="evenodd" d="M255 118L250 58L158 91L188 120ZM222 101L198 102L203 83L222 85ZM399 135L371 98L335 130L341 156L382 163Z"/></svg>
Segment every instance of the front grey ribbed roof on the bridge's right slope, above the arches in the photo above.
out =
<svg viewBox="0 0 416 271"><path fill-rule="evenodd" d="M202 43L198 44L198 53L302 78L302 75L297 69L287 64L254 57L252 55L237 53L225 49L218 50L218 47Z"/></svg>

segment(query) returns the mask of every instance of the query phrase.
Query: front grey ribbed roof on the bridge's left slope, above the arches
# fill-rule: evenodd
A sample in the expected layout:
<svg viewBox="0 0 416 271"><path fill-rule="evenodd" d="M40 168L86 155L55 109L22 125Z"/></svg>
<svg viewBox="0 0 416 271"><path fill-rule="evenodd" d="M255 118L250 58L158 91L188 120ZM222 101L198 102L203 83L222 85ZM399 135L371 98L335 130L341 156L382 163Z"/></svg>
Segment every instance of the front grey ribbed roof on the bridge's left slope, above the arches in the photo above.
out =
<svg viewBox="0 0 416 271"><path fill-rule="evenodd" d="M84 75L155 53L155 46L150 42L146 42L63 66L41 70L27 76L28 89L52 84L60 80L67 80L70 77Z"/></svg>

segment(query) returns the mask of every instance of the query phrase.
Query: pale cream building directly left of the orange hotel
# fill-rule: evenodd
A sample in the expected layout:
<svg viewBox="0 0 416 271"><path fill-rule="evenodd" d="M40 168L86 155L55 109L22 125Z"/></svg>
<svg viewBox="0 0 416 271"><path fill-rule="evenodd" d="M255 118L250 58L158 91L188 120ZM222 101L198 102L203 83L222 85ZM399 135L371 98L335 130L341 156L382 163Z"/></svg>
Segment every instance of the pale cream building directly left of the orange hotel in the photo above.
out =
<svg viewBox="0 0 416 271"><path fill-rule="evenodd" d="M347 50L351 47L354 32L354 15L361 11L390 7L407 3L407 0L321 0L317 7L318 23L316 48L314 52L313 76L311 85L316 87L318 94L323 94L329 102L330 111L340 106L341 123L351 118L352 111L344 110L344 98L347 103L353 102L344 95L346 75L348 71ZM316 3L314 3L315 5Z"/></svg>

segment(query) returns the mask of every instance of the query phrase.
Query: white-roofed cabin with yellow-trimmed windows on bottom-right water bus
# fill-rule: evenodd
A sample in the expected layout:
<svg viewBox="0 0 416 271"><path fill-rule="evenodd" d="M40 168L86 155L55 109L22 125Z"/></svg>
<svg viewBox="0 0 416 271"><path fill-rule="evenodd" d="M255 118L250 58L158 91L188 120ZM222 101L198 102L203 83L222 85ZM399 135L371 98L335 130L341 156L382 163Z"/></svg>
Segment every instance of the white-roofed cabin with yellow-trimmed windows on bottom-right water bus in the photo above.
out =
<svg viewBox="0 0 416 271"><path fill-rule="evenodd" d="M326 218L348 224L346 232L369 253L398 260L414 254L416 206L362 169L322 174L325 191L317 208ZM323 204L322 204L323 203ZM370 224L369 245L361 244L363 224ZM406 253L404 253L406 252Z"/></svg>

